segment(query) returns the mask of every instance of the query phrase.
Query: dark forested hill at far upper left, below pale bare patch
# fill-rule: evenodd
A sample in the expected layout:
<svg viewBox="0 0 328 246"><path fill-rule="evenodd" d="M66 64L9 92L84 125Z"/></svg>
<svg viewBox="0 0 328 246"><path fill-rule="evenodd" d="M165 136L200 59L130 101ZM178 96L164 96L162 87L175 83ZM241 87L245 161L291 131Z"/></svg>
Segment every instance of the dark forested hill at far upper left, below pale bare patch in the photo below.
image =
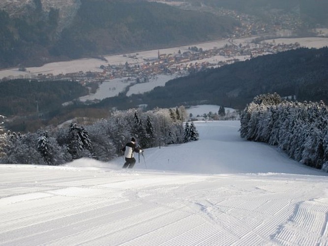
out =
<svg viewBox="0 0 328 246"><path fill-rule="evenodd" d="M35 10L24 18L10 18L0 10L0 68L47 62L57 22L55 9L47 14Z"/></svg>

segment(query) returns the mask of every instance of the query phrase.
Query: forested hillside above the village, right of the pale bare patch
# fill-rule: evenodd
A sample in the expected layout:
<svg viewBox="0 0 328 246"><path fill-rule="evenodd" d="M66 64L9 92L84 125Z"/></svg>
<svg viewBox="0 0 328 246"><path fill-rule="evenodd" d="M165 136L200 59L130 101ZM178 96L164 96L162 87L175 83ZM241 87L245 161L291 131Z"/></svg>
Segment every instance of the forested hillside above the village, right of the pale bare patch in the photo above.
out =
<svg viewBox="0 0 328 246"><path fill-rule="evenodd" d="M82 0L54 55L77 58L167 47L231 33L238 23L208 13L184 11L146 1ZM96 14L95 14L96 13Z"/></svg>

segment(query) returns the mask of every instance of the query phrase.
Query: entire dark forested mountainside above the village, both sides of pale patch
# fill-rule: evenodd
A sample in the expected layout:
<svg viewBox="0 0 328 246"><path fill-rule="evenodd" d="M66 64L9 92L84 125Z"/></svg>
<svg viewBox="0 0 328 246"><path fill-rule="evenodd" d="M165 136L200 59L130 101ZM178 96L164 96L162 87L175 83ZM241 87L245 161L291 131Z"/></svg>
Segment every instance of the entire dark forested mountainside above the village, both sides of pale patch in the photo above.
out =
<svg viewBox="0 0 328 246"><path fill-rule="evenodd" d="M10 17L0 10L0 68L107 55L224 37L239 22L209 13L135 0L81 0L58 31L60 10L41 6Z"/></svg>

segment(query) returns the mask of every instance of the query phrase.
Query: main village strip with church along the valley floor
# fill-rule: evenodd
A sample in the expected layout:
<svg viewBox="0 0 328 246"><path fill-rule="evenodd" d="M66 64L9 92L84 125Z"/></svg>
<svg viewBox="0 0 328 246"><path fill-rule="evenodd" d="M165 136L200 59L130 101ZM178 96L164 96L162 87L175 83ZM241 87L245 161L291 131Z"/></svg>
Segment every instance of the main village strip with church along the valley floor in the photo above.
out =
<svg viewBox="0 0 328 246"><path fill-rule="evenodd" d="M225 64L239 62L240 58L252 59L264 54L275 54L282 51L296 49L300 45L295 44L261 44L260 47L251 47L249 44L239 45L226 44L223 48L213 48L203 50L192 46L188 51L183 53L180 50L175 54L161 54L158 51L157 58L144 59L142 63L135 64L106 64L101 65L102 72L74 72L66 74L53 75L49 74L29 74L25 78L33 78L38 80L63 80L74 79L81 84L101 83L104 80L116 78L128 78L128 81L135 80L136 83L147 83L148 78L154 75L161 74L183 74L195 73L207 68L220 67ZM138 55L138 53L137 53ZM129 55L128 58L138 59L137 55ZM123 55L126 56L127 55ZM211 59L220 57L220 59ZM214 62L215 61L215 62ZM108 62L107 62L108 63Z"/></svg>

